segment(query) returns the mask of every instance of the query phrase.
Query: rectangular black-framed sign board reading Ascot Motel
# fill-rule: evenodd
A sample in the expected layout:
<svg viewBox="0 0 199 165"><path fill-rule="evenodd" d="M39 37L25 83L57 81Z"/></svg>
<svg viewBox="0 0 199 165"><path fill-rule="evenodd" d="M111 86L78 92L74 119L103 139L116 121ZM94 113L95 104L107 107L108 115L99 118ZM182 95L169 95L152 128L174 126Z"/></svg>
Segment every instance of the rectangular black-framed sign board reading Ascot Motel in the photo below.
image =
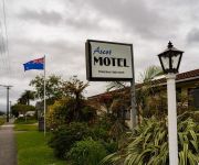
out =
<svg viewBox="0 0 199 165"><path fill-rule="evenodd" d="M87 40L88 80L133 79L133 45Z"/></svg>

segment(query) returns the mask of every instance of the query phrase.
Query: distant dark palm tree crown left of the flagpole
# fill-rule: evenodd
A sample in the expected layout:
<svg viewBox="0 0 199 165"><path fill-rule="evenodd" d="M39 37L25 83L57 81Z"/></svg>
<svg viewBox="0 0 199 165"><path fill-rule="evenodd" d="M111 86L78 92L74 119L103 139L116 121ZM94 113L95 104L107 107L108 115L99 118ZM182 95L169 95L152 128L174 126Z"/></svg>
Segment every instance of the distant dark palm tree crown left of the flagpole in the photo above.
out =
<svg viewBox="0 0 199 165"><path fill-rule="evenodd" d="M30 100L34 100L34 91L25 90L21 97L18 99L19 103L30 105Z"/></svg>

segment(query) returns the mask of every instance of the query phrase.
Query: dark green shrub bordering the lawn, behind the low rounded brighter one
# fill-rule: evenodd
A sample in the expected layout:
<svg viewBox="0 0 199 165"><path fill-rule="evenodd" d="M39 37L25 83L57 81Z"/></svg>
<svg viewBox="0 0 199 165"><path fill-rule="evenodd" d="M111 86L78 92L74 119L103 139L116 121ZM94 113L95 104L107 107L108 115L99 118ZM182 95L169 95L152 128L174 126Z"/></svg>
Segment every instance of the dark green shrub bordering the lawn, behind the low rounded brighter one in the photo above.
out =
<svg viewBox="0 0 199 165"><path fill-rule="evenodd" d="M54 148L56 157L65 158L66 153L75 142L92 135L87 124L72 122L67 125L62 125L54 131L49 144Z"/></svg>

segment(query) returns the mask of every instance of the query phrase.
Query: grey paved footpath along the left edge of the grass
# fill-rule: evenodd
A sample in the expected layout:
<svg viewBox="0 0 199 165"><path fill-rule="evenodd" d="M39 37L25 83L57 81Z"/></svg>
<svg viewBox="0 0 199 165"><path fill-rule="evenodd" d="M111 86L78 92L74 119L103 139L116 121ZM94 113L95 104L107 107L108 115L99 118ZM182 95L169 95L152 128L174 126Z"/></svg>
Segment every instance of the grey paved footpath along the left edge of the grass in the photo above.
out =
<svg viewBox="0 0 199 165"><path fill-rule="evenodd" d="M12 121L0 127L0 165L17 165L17 148Z"/></svg>

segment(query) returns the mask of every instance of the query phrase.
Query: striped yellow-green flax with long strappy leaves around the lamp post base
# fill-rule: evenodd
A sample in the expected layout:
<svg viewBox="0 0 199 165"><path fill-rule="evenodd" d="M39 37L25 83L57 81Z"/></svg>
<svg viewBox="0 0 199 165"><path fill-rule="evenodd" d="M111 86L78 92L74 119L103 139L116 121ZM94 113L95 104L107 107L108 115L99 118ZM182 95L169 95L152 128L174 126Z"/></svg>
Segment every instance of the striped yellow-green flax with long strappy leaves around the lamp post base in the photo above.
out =
<svg viewBox="0 0 199 165"><path fill-rule="evenodd" d="M127 141L127 140L126 140ZM195 165L199 162L199 127L187 113L178 117L179 164ZM169 163L167 122L151 118L144 120L135 134L116 153L102 162L104 165L165 165Z"/></svg>

